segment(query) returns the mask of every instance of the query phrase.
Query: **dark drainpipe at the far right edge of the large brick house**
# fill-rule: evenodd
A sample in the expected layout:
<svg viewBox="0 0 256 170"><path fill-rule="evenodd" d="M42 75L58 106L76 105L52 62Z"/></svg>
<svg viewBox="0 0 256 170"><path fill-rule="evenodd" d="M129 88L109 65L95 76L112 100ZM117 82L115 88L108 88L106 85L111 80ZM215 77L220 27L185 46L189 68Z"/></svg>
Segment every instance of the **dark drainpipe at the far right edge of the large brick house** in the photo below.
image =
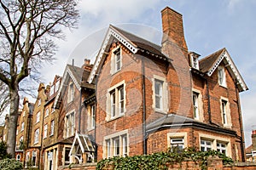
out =
<svg viewBox="0 0 256 170"><path fill-rule="evenodd" d="M240 106L240 97L238 93L238 88L236 87L236 104L237 104L237 109L238 109L238 118L239 118L239 125L240 125L240 144L241 144L241 161L246 161L245 160L245 144L244 144L244 136L243 136L243 127L241 123L241 106Z"/></svg>

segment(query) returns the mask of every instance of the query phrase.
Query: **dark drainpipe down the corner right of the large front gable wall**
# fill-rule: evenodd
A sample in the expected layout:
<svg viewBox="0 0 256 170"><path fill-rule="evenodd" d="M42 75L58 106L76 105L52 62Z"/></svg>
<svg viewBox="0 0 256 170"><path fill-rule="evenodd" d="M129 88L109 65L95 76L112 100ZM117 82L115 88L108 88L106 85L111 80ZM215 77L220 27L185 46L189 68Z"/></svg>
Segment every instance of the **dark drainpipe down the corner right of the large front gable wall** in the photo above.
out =
<svg viewBox="0 0 256 170"><path fill-rule="evenodd" d="M145 65L142 58L142 76L143 76L143 155L147 154L147 134L146 134L146 87L145 87Z"/></svg>

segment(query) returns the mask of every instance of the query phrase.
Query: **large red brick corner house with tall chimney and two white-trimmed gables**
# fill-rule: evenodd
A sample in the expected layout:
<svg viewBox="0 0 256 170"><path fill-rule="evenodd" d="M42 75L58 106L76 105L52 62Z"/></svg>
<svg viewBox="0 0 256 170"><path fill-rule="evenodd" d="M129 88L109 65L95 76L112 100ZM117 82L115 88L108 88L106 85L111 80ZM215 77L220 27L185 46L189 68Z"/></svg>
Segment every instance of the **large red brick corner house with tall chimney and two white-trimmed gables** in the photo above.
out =
<svg viewBox="0 0 256 170"><path fill-rule="evenodd" d="M247 90L225 48L199 59L183 19L161 11L161 45L109 26L88 77L96 83L97 159L196 147L245 161L239 93Z"/></svg>

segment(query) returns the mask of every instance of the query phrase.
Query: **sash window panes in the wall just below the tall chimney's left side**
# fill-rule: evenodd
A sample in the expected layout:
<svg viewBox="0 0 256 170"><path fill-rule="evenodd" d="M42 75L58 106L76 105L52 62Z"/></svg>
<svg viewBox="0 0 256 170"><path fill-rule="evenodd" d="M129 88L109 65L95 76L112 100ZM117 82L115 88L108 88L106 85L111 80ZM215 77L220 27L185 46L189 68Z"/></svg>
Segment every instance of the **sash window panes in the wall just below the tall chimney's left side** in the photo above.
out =
<svg viewBox="0 0 256 170"><path fill-rule="evenodd" d="M154 81L155 108L163 110L163 83L160 80Z"/></svg>

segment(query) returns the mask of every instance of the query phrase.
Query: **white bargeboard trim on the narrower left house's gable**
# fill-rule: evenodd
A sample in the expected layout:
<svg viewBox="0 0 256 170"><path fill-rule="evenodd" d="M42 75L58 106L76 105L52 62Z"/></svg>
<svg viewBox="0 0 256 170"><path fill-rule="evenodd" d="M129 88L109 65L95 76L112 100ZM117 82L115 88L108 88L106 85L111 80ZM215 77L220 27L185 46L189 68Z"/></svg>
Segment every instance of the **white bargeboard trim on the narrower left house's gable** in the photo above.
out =
<svg viewBox="0 0 256 170"><path fill-rule="evenodd" d="M56 106L57 103L58 103L58 100L59 100L59 98L60 98L60 96L61 96L62 88L63 88L63 87L66 88L66 86L64 85L64 83L66 83L66 81L67 81L67 74L71 77L71 79L73 80L75 86L79 89L79 91L81 90L81 87L79 86L79 82L78 82L78 81L76 80L76 78L73 76L73 72L70 71L70 69L69 69L69 67L68 67L68 65L67 65L67 66L66 66L66 69L65 69L65 71L64 71L63 79L61 80L61 86L60 86L60 88L59 88L59 90L58 90L58 94L56 95L56 98L55 98L55 103L54 103L54 105L53 105L53 108L55 108L55 106Z"/></svg>

